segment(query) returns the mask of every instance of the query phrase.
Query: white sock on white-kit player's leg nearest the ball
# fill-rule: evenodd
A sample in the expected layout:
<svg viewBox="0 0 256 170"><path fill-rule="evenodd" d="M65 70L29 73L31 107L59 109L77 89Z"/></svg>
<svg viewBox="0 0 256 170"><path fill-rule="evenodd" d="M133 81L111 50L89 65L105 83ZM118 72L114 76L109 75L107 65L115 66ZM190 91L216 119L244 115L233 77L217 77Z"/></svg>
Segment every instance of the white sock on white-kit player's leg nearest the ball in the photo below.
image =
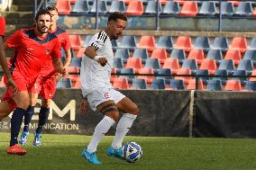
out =
<svg viewBox="0 0 256 170"><path fill-rule="evenodd" d="M112 147L114 149L121 148L123 138L128 133L133 125L133 121L136 119L137 115L130 113L124 113L120 121L117 123L114 140L112 142Z"/></svg>

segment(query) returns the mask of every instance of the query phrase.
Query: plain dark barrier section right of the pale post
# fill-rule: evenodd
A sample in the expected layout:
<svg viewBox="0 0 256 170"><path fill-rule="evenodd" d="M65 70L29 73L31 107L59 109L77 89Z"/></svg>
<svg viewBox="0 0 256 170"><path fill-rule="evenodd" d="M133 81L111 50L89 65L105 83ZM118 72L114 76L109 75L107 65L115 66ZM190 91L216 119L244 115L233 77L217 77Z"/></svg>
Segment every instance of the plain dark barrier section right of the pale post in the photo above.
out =
<svg viewBox="0 0 256 170"><path fill-rule="evenodd" d="M197 92L195 137L256 138L256 94Z"/></svg>

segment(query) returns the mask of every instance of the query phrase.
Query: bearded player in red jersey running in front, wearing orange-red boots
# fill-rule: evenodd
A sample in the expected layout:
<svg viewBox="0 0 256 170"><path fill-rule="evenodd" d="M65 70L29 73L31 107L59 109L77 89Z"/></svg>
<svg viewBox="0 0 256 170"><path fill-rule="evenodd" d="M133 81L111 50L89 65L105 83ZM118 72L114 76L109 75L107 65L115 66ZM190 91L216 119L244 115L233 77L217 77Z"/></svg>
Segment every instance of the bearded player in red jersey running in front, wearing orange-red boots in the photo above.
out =
<svg viewBox="0 0 256 170"><path fill-rule="evenodd" d="M64 77L68 72L60 60L60 45L56 35L49 33L50 13L41 10L36 14L35 27L14 32L6 42L6 48L15 49L15 55L9 63L18 92L10 87L0 103L0 121L13 110L11 120L11 140L7 154L24 155L26 150L18 145L18 135L23 122L23 115L30 105L30 92L40 75L45 61L52 58L55 69Z"/></svg>

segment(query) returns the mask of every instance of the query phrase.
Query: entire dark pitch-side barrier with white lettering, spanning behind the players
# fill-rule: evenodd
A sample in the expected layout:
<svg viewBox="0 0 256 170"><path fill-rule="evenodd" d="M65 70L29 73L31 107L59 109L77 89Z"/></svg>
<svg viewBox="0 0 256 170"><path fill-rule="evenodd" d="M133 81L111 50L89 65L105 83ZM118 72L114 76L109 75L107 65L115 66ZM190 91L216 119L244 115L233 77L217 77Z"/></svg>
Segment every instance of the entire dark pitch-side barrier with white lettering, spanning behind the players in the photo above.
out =
<svg viewBox="0 0 256 170"><path fill-rule="evenodd" d="M1 89L0 94L3 92ZM129 135L256 138L255 93L151 90L123 90L122 93L140 109ZM91 135L103 116L92 111L80 114L80 96L80 90L59 89L43 132ZM31 131L37 127L41 100L38 102ZM10 131L9 117L0 122L0 130ZM115 125L107 135L114 132Z"/></svg>

